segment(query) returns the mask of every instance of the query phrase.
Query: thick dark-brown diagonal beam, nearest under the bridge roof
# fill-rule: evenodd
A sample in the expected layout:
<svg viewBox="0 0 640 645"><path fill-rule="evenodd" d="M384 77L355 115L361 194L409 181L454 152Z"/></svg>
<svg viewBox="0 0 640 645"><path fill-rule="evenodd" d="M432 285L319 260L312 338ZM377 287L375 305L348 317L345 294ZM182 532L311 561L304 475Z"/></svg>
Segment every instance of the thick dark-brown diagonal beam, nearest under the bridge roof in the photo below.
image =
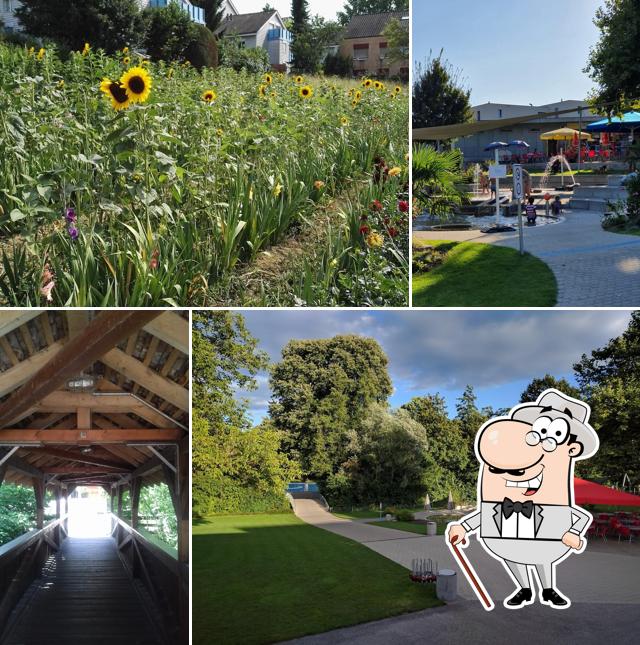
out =
<svg viewBox="0 0 640 645"><path fill-rule="evenodd" d="M159 310L101 311L51 360L4 403L0 404L0 427L32 408L65 381L92 365L101 356L160 315Z"/></svg>

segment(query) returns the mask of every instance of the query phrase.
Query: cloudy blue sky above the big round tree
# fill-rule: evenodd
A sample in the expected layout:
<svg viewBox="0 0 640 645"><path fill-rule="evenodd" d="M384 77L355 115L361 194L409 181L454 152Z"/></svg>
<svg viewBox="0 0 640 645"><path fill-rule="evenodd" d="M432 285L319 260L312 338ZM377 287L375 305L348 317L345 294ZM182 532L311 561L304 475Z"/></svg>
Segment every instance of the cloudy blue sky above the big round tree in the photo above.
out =
<svg viewBox="0 0 640 645"><path fill-rule="evenodd" d="M572 366L627 327L629 311L244 311L251 333L271 361L291 339L362 334L389 357L399 407L414 396L439 392L455 400L473 385L479 406L507 408L535 377L550 373L573 381ZM255 392L242 393L259 422L271 392L266 372Z"/></svg>

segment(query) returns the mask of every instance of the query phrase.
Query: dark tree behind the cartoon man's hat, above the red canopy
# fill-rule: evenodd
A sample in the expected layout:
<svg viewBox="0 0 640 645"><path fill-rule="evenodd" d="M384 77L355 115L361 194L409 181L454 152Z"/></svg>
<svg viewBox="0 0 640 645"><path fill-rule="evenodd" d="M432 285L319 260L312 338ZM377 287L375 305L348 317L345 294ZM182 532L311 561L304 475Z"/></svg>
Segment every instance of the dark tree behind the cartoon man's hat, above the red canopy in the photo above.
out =
<svg viewBox="0 0 640 645"><path fill-rule="evenodd" d="M574 365L600 449L580 462L583 475L622 484L627 475L640 483L640 312L625 332Z"/></svg>

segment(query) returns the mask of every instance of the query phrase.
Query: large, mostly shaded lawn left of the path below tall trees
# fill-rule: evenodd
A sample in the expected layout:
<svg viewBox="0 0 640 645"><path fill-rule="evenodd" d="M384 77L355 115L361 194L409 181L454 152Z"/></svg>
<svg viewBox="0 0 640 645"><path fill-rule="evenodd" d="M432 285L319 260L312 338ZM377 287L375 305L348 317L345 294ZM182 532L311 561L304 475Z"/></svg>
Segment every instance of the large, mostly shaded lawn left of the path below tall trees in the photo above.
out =
<svg viewBox="0 0 640 645"><path fill-rule="evenodd" d="M193 643L272 643L440 605L432 585L292 514L193 526Z"/></svg>

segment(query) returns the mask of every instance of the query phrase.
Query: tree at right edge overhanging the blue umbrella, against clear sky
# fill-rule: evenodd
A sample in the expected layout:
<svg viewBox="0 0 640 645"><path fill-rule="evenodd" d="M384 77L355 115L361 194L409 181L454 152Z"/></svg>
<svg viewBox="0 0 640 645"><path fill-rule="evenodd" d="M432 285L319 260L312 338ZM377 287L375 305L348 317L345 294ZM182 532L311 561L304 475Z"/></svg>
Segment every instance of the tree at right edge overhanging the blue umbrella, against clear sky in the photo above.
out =
<svg viewBox="0 0 640 645"><path fill-rule="evenodd" d="M607 113L621 113L640 101L640 1L605 0L594 24L600 40L586 69L598 84L592 102Z"/></svg>

